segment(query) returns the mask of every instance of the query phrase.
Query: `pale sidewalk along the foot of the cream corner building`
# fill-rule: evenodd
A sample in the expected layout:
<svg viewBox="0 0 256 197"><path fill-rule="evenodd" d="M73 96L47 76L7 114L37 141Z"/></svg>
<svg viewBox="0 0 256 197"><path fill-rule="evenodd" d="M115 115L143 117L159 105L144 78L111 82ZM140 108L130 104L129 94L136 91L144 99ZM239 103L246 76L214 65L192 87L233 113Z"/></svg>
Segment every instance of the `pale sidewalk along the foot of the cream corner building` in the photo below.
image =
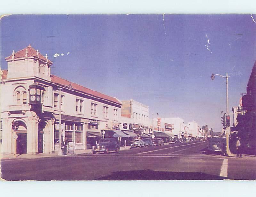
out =
<svg viewBox="0 0 256 197"><path fill-rule="evenodd" d="M123 146L120 147L120 151L123 150L129 150L131 148L131 146ZM91 149L86 149L86 150L76 150L75 151L75 155L81 155L81 154L89 154L92 153ZM63 156L72 156L74 155L73 153L67 153L67 155L63 155ZM14 155L11 154L1 154L0 159L1 160L6 160L6 159L35 159L35 158L45 158L45 157L62 157L62 156L58 156L58 152L56 151L55 153L39 153L39 154L20 154L17 155L16 157Z"/></svg>

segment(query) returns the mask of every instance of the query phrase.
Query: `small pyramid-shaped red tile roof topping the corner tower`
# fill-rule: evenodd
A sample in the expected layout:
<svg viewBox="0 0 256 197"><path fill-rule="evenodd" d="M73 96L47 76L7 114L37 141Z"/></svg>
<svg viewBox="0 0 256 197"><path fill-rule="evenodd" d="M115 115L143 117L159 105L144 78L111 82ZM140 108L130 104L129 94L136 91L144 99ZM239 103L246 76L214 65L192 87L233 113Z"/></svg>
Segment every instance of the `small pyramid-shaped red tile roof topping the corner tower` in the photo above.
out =
<svg viewBox="0 0 256 197"><path fill-rule="evenodd" d="M37 51L36 51L32 46L30 46L30 44L29 44L26 48L24 48L24 49L22 49L22 50L16 52L16 53L14 54L14 59L15 59L15 58L25 58L25 57L26 57L26 49L28 50L28 55L27 55L27 57L37 57ZM44 60L44 61L47 61L49 64L52 64L52 62L51 62L49 59L46 59L46 57L44 57L44 56L43 56L41 53L39 53L39 52L38 52L38 58L39 58L39 59L42 59L42 60ZM12 55L6 57L5 59L6 59L6 60L12 59Z"/></svg>

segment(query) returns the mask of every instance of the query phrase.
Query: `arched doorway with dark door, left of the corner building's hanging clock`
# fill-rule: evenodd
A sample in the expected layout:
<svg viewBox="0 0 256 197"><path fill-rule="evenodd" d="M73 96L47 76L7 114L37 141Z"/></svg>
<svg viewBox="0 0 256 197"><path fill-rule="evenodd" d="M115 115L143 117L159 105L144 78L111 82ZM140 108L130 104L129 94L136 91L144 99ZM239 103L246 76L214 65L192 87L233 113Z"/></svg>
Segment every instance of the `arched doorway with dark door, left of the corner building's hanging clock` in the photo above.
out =
<svg viewBox="0 0 256 197"><path fill-rule="evenodd" d="M27 126L22 121L15 121L17 130L15 131L18 136L16 139L16 153L27 153Z"/></svg>

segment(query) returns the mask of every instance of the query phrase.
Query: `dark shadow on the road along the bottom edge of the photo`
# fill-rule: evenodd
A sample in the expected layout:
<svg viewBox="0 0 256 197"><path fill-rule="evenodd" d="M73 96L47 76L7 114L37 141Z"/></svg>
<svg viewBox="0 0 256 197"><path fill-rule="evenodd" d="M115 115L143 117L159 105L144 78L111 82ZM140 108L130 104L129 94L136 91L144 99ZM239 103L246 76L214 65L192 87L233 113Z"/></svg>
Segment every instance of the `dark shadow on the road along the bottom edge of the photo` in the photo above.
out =
<svg viewBox="0 0 256 197"><path fill-rule="evenodd" d="M132 170L112 172L111 175L96 180L223 180L220 177L202 172L164 172L153 170Z"/></svg>

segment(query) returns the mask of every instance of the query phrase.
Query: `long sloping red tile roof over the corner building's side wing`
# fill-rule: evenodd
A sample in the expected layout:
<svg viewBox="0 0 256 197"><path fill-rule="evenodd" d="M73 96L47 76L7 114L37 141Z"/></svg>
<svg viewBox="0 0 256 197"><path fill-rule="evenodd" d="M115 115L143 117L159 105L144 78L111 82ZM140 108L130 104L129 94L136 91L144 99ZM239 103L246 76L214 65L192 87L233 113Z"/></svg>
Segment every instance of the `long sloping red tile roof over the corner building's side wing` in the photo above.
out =
<svg viewBox="0 0 256 197"><path fill-rule="evenodd" d="M111 102L114 102L116 104L119 104L119 105L122 105L122 103L120 101L118 101L116 98L114 97L110 97L108 95L105 95L105 94L102 94L100 92L97 92L97 91L94 91L94 90L91 90L89 88L86 88L86 87L83 87L81 85L78 85L76 83L73 83L73 82L70 82L66 79L62 79L58 76L55 76L55 75L51 75L51 81L53 83L57 83L57 84L60 84L60 85L69 85L71 84L72 85L72 89L75 89L75 90L78 90L78 91L81 91L85 94L89 94L89 95L92 95L94 97L97 97L99 99L105 99L105 100L108 100L108 101L111 101Z"/></svg>

